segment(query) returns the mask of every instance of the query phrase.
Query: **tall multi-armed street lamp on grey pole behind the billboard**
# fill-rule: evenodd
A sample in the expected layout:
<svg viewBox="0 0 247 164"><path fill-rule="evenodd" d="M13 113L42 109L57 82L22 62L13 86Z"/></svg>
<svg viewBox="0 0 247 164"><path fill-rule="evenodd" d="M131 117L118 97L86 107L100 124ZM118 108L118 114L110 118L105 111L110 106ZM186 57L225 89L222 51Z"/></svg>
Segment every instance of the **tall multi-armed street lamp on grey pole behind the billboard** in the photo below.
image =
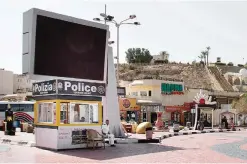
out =
<svg viewBox="0 0 247 164"><path fill-rule="evenodd" d="M127 19L122 20L119 23L114 20L114 16L106 15L104 13L100 13L100 16L103 17L103 20L101 20L100 18L94 18L93 20L98 22L104 21L104 22L113 23L117 27L117 57L115 58L117 59L117 84L119 85L119 28L123 24L129 24L129 25L141 25L141 24L140 22L132 22L132 23L126 22L128 20L135 19L136 15L130 15Z"/></svg>

